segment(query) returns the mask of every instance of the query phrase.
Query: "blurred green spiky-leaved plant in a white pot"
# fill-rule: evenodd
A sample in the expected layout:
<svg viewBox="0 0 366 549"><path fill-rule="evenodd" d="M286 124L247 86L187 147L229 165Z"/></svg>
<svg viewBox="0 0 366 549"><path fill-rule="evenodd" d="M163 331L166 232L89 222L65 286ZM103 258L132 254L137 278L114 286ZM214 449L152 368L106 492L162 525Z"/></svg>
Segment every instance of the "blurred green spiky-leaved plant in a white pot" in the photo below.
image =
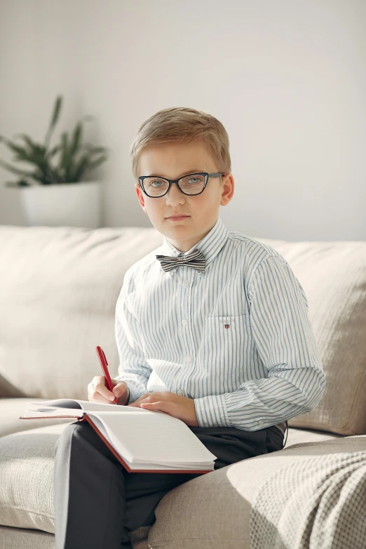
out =
<svg viewBox="0 0 366 549"><path fill-rule="evenodd" d="M20 192L22 208L29 225L67 225L97 228L101 219L100 181L82 181L86 172L97 168L107 160L105 147L82 144L82 120L76 124L71 137L63 132L60 143L50 147L50 137L55 129L62 105L62 95L55 100L50 126L44 144L34 142L25 134L16 134L24 143L16 144L0 135L0 142L13 151L13 161L27 162L27 170L15 168L0 160L6 170L18 175L15 187ZM85 116L88 120L93 116ZM58 155L57 161L53 161Z"/></svg>

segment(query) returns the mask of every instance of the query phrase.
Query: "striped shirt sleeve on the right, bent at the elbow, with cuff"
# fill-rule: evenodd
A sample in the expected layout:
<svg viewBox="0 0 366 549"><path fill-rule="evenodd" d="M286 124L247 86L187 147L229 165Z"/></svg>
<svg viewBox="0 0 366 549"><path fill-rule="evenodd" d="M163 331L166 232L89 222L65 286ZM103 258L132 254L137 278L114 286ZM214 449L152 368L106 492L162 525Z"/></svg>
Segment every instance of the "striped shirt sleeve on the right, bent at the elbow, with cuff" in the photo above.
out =
<svg viewBox="0 0 366 549"><path fill-rule="evenodd" d="M245 381L233 393L194 399L200 427L257 431L310 412L323 396L325 374L308 301L282 256L257 266L248 297L252 337L268 377Z"/></svg>

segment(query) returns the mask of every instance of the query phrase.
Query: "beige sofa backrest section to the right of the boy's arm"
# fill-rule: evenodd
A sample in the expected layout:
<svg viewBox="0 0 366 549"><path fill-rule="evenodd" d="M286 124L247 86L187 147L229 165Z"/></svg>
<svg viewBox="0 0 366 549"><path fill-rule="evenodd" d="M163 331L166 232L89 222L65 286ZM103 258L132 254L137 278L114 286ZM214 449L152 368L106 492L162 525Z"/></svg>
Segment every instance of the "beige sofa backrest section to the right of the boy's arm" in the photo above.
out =
<svg viewBox="0 0 366 549"><path fill-rule="evenodd" d="M323 398L289 427L366 434L366 242L265 240L304 287L323 362Z"/></svg>

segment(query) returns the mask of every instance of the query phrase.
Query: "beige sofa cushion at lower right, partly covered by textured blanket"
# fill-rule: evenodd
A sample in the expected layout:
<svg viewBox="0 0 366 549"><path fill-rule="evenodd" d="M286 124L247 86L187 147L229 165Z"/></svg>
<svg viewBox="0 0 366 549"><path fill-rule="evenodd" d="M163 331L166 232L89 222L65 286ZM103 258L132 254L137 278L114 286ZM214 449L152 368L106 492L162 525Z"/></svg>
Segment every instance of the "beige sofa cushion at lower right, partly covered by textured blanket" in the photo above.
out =
<svg viewBox="0 0 366 549"><path fill-rule="evenodd" d="M189 480L159 501L149 544L161 549L249 548L251 506L270 475L309 456L365 449L365 435L301 442Z"/></svg>

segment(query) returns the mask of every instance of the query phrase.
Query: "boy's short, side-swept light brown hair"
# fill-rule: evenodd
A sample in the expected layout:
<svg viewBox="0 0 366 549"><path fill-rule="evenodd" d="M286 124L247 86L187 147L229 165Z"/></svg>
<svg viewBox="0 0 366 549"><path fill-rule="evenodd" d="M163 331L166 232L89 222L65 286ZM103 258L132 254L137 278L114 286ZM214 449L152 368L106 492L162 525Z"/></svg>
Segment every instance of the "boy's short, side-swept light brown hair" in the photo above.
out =
<svg viewBox="0 0 366 549"><path fill-rule="evenodd" d="M149 145L203 142L217 163L217 171L231 172L229 135L222 123L204 111L168 107L147 118L130 149L133 175L138 181L140 154Z"/></svg>

